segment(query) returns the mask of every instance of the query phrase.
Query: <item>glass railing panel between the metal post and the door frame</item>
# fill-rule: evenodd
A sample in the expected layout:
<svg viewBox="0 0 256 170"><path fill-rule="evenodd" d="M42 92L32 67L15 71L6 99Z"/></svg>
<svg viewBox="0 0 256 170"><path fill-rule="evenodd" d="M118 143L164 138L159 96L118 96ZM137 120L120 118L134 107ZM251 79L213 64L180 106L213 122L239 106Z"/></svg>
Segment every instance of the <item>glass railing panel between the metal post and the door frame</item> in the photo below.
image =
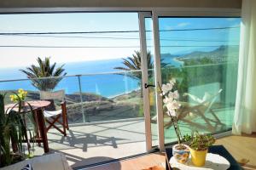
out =
<svg viewBox="0 0 256 170"><path fill-rule="evenodd" d="M141 75L141 71L125 71L82 76L85 122L143 118Z"/></svg>

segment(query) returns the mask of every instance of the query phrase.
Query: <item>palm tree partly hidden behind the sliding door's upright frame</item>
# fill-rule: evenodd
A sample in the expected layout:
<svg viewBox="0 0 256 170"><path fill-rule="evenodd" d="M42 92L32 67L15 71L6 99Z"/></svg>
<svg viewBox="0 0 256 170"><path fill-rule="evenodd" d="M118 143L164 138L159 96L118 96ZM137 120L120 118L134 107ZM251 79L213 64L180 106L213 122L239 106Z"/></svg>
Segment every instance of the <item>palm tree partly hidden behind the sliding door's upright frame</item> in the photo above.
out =
<svg viewBox="0 0 256 170"><path fill-rule="evenodd" d="M114 69L118 69L121 71L135 71L131 72L130 74L127 74L129 77L135 77L139 80L141 80L141 72L138 70L142 70L142 57L141 53L139 51L134 51L135 54L132 54L132 57L128 57L127 59L123 59L124 61L122 62L125 66L119 66L119 67L114 67ZM148 51L147 52L147 64L148 64L148 70L151 70L154 68L152 59L151 59L151 54ZM151 71L150 71L151 72ZM148 73L148 77L151 77L152 73Z"/></svg>

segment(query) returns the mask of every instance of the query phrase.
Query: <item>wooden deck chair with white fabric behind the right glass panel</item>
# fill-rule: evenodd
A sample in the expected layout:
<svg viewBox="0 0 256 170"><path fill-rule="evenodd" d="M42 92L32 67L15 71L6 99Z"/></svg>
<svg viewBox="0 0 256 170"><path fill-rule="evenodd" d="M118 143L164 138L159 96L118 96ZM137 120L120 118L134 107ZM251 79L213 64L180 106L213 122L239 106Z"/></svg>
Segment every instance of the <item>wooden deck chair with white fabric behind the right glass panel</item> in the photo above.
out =
<svg viewBox="0 0 256 170"><path fill-rule="evenodd" d="M202 99L199 99L195 95L192 94L184 94L188 95L190 99L193 99L195 102L195 105L189 105L188 103L183 103L183 107L178 110L177 113L177 119L183 122L189 123L189 125L207 129L211 132L214 132L218 126L223 128L225 125L224 123L220 122L218 119L218 116L216 116L215 112L212 111L212 105L218 99L219 94L221 94L222 89L218 90L217 94L210 95L208 93L205 93L204 97ZM187 118L191 113L193 113L195 116L201 117L202 120L204 120L204 124L199 122L192 122L191 117ZM208 117L207 114L211 114L212 118ZM212 125L212 123L215 124L215 126ZM172 122L167 122L165 124L165 127L171 127Z"/></svg>

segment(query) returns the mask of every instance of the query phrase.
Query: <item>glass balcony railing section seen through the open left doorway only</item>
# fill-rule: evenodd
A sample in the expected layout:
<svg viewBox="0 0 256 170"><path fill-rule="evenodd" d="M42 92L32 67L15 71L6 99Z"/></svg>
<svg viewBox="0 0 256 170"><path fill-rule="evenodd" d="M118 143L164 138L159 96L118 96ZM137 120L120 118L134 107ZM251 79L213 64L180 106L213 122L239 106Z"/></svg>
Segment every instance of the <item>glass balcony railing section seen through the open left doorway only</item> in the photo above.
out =
<svg viewBox="0 0 256 170"><path fill-rule="evenodd" d="M11 103L9 94L19 88L28 92L26 100L38 100L39 90L32 85L32 80L43 83L60 78L61 82L53 91L65 90L70 124L143 117L141 71L3 80L0 81L0 92L7 93L5 104Z"/></svg>

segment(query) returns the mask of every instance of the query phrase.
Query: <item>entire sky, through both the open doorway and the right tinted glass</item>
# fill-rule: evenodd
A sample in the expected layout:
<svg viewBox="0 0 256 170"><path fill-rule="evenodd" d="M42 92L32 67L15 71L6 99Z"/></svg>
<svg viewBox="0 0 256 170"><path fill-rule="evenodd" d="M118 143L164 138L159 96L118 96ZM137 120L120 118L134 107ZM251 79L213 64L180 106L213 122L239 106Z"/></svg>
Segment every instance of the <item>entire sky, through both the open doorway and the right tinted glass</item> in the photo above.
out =
<svg viewBox="0 0 256 170"><path fill-rule="evenodd" d="M0 14L0 32L60 31L138 31L137 13L73 14ZM161 31L193 28L233 27L236 18L160 18L161 53L183 54L193 50L212 50L220 45L239 44L239 28L201 31ZM152 21L146 20L148 50L152 51ZM0 46L58 46L111 48L3 48L0 47L0 69L24 67L38 57L53 62L70 63L131 56L139 50L139 33L68 34L41 36L3 36ZM121 38L121 39L120 39ZM125 39L122 39L125 38ZM168 47L165 47L168 46ZM176 46L176 47L169 47ZM178 46L178 47L177 47ZM195 46L195 47L180 47ZM207 47L206 47L207 46ZM128 47L128 48L119 48Z"/></svg>

